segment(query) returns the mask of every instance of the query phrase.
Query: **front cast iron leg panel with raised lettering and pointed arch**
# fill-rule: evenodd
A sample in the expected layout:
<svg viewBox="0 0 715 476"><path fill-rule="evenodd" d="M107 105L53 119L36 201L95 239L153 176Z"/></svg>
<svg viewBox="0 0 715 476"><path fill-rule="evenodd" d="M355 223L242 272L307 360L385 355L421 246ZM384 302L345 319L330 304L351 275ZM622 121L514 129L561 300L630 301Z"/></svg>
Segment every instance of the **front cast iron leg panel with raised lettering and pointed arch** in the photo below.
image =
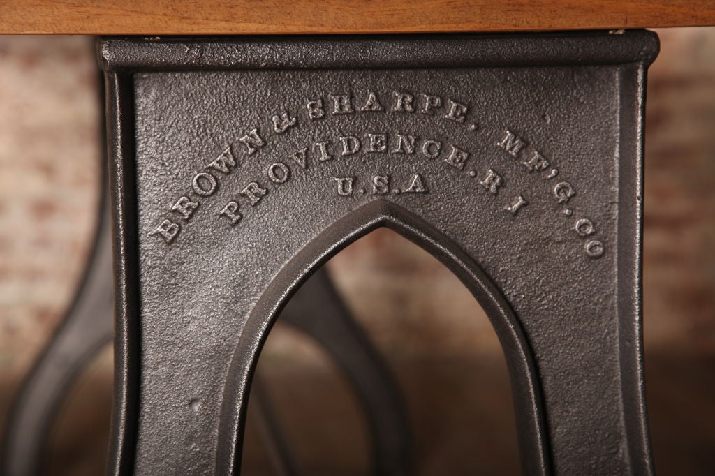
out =
<svg viewBox="0 0 715 476"><path fill-rule="evenodd" d="M102 41L110 471L239 472L273 319L330 256L390 227L490 317L524 472L650 474L641 156L657 51L646 31Z"/></svg>

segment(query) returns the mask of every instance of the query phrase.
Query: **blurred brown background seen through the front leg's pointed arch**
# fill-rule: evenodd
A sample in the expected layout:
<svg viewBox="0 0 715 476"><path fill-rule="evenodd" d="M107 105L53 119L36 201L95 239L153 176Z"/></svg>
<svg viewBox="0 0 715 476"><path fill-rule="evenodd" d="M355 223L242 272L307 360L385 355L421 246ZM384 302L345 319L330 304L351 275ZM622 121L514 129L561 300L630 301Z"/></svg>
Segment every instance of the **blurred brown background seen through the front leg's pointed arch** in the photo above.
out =
<svg viewBox="0 0 715 476"><path fill-rule="evenodd" d="M305 302L320 298L306 288L320 286L314 281L327 277L326 268L347 314L325 317L358 324L389 367L386 377L393 381L378 383L396 385L402 397L413 449L410 474L519 474L508 370L493 327L449 269L385 228L331 259L278 318L254 377L261 384L254 382L250 395L242 474L275 472L281 457L271 438L287 443L295 468L275 474L374 474L370 412L350 370L310 328L300 331L290 322L300 311L327 307L330 314L330 296ZM327 324L325 317L308 318ZM265 415L265 402L271 415ZM265 428L267 418L278 422L278 435Z"/></svg>

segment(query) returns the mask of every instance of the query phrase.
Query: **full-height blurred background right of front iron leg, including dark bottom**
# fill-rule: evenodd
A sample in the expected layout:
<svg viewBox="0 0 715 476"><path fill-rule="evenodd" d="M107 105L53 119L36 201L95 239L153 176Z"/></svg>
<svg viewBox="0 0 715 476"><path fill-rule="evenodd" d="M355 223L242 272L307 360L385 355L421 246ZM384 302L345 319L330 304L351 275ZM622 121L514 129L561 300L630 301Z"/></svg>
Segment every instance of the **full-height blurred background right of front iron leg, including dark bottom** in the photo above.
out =
<svg viewBox="0 0 715 476"><path fill-rule="evenodd" d="M715 29L659 31L644 203L646 390L656 470L715 474Z"/></svg>

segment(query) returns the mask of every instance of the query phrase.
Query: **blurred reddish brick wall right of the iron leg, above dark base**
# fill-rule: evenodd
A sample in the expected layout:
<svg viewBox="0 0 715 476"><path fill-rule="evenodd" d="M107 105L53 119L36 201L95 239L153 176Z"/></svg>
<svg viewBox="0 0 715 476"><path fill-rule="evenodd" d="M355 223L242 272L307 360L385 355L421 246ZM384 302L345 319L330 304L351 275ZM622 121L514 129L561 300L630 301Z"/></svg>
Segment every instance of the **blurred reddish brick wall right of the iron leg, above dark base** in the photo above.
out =
<svg viewBox="0 0 715 476"><path fill-rule="evenodd" d="M660 30L646 101L650 349L715 348L715 29Z"/></svg>

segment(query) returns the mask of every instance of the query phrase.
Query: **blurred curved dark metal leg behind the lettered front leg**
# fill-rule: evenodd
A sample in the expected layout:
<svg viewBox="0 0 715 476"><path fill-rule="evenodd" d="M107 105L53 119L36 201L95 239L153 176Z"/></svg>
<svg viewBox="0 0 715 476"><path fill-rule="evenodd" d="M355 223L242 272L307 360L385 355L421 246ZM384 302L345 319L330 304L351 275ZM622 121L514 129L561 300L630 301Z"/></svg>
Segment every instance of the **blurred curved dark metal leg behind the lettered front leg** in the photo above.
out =
<svg viewBox="0 0 715 476"><path fill-rule="evenodd" d="M106 206L105 199L94 252L74 304L27 375L9 412L0 457L2 475L40 475L49 469L44 465L45 445L56 411L79 373L112 340L112 220ZM354 385L365 405L375 474L408 474L411 437L400 392L325 269L301 287L280 316L324 347ZM300 474L263 387L255 385L251 394L262 442L273 456L277 475Z"/></svg>

